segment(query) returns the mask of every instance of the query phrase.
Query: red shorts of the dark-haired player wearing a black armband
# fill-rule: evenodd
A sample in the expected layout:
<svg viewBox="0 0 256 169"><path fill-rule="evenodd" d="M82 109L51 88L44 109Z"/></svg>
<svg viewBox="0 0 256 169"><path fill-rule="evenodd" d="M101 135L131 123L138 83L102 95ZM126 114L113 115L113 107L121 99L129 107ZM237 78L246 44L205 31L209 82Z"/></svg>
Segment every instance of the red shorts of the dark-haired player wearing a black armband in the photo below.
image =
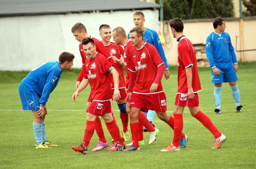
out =
<svg viewBox="0 0 256 169"><path fill-rule="evenodd" d="M93 115L111 113L111 101L92 101L88 113Z"/></svg>

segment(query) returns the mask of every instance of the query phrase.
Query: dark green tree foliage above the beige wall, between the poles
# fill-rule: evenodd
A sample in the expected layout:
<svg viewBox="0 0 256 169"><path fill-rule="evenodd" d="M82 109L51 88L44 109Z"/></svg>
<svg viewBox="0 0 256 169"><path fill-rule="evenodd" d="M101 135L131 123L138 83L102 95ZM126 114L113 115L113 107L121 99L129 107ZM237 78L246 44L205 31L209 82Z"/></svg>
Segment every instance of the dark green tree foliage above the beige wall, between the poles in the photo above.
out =
<svg viewBox="0 0 256 169"><path fill-rule="evenodd" d="M164 20L234 17L233 0L162 0ZM243 0L248 1L248 0ZM250 0L252 4L256 0ZM159 3L159 0L158 0ZM250 7L249 7L250 8ZM256 12L255 8L252 8ZM251 14L252 12L250 12ZM254 14L255 15L255 14Z"/></svg>

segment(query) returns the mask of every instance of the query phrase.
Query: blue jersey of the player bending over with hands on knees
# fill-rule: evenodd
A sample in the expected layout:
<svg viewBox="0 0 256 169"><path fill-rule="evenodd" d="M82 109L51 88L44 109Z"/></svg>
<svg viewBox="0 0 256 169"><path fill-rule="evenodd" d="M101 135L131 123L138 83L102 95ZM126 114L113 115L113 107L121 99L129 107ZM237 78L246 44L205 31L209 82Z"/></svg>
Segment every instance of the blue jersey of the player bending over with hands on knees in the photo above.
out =
<svg viewBox="0 0 256 169"><path fill-rule="evenodd" d="M31 95L40 97L39 104L44 106L50 93L57 86L62 71L58 61L45 62L31 70L20 82L20 88Z"/></svg>

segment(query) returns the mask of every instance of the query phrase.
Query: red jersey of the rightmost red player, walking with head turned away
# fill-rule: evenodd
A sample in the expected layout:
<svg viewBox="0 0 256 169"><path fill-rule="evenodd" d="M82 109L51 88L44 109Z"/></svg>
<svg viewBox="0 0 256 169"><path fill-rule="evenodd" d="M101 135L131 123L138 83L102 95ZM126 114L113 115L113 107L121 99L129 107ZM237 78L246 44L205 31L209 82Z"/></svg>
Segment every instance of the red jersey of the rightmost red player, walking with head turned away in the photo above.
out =
<svg viewBox="0 0 256 169"><path fill-rule="evenodd" d="M188 93L186 68L189 66L192 66L192 89L194 93L197 93L201 91L201 85L197 70L196 53L190 40L183 36L178 42L178 94Z"/></svg>

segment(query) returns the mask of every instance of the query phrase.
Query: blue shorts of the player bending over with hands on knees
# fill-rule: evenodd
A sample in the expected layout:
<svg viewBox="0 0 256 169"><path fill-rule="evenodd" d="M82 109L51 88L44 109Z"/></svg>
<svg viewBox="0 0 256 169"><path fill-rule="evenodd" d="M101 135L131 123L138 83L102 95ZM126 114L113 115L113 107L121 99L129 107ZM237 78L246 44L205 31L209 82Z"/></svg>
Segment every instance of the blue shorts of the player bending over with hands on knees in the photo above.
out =
<svg viewBox="0 0 256 169"><path fill-rule="evenodd" d="M40 97L31 95L19 87L20 100L23 110L38 111L40 109Z"/></svg>

